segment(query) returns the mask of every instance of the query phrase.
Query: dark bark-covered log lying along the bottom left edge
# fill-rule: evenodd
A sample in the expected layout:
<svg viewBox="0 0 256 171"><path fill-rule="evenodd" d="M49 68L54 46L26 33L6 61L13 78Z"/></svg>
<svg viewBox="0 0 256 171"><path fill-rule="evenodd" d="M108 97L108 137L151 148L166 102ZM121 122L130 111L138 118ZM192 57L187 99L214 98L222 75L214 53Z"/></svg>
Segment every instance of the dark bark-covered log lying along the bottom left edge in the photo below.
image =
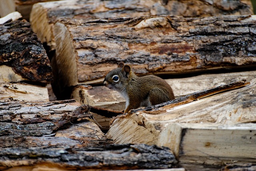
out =
<svg viewBox="0 0 256 171"><path fill-rule="evenodd" d="M177 161L168 148L144 144L6 148L0 151L1 170L164 169L176 165Z"/></svg>

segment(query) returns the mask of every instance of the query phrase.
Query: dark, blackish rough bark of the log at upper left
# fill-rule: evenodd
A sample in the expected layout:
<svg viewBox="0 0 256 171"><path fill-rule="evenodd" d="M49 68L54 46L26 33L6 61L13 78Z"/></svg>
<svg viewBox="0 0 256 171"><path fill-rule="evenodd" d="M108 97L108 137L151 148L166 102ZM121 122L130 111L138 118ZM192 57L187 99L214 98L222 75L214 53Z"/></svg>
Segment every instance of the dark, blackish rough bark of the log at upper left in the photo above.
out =
<svg viewBox="0 0 256 171"><path fill-rule="evenodd" d="M46 51L26 20L0 25L0 47L0 66L12 67L23 80L52 81Z"/></svg>

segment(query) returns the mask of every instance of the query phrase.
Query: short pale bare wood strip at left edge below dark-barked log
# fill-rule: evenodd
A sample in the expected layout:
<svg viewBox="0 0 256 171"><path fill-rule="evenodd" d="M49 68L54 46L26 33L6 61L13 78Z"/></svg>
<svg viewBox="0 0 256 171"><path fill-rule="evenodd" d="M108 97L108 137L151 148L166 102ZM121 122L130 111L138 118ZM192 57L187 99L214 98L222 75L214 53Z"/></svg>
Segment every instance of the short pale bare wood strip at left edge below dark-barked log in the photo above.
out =
<svg viewBox="0 0 256 171"><path fill-rule="evenodd" d="M22 83L0 83L0 100L49 101L46 87Z"/></svg>

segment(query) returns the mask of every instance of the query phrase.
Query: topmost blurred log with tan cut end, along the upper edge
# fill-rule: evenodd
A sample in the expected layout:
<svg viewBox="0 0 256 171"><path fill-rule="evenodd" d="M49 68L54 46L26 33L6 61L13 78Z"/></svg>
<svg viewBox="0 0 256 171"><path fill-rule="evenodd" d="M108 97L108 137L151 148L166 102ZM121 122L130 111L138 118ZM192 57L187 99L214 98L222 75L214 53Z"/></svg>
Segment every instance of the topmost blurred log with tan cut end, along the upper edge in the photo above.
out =
<svg viewBox="0 0 256 171"><path fill-rule="evenodd" d="M60 18L116 18L149 15L186 17L253 14L250 0L66 0L34 4L30 22L42 42L55 47L52 26Z"/></svg>

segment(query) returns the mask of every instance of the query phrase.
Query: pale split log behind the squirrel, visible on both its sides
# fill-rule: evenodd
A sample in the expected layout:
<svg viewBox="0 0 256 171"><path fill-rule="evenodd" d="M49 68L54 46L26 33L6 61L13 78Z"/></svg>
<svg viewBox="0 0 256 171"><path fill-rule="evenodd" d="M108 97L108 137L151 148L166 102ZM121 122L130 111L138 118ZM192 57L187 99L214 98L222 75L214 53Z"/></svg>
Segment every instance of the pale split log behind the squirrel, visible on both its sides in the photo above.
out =
<svg viewBox="0 0 256 171"><path fill-rule="evenodd" d="M222 74L203 74L187 78L165 79L172 87L175 98L202 91L210 87L228 84L236 80L250 82L256 77L256 71L233 72ZM72 90L71 99L81 104L89 104L95 107L103 107L113 110L124 110L125 99L117 91L110 90L105 86L78 85Z"/></svg>

